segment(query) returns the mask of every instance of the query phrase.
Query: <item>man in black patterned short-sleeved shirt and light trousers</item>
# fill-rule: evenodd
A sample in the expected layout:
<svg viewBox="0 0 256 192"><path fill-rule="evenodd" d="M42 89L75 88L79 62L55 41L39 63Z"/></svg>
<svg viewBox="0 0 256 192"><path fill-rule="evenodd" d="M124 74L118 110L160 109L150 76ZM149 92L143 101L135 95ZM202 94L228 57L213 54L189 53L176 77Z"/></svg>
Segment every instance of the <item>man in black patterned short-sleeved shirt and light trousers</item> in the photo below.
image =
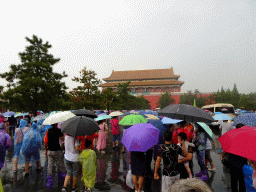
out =
<svg viewBox="0 0 256 192"><path fill-rule="evenodd" d="M169 192L169 188L175 181L180 179L180 173L177 170L178 155L187 156L184 141L180 141L182 148L172 143L172 132L164 133L165 144L159 150L155 164L154 179L159 179L158 169L161 159L163 158L163 176L162 176L162 192Z"/></svg>

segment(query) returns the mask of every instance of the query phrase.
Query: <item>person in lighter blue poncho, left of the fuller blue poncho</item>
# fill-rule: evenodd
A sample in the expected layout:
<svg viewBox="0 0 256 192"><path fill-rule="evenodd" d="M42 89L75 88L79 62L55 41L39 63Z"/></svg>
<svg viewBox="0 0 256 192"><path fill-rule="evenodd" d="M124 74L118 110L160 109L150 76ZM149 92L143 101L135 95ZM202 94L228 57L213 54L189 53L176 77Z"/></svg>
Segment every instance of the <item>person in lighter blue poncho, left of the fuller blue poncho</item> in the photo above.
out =
<svg viewBox="0 0 256 192"><path fill-rule="evenodd" d="M14 158L15 158L14 173L16 173L17 169L18 169L18 160L21 157L20 149L22 146L23 137L29 130L29 128L27 126L28 126L28 122L24 119L21 119L19 128L15 129L15 134L14 134Z"/></svg>

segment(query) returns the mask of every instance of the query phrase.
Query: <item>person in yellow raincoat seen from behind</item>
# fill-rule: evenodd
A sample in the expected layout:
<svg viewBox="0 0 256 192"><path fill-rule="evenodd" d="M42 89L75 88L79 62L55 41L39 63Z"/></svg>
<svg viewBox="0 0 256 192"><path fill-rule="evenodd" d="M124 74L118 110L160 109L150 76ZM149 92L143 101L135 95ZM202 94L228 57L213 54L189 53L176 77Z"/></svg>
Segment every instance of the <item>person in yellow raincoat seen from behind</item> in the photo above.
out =
<svg viewBox="0 0 256 192"><path fill-rule="evenodd" d="M91 150L92 142L88 139L85 140L85 150L83 150L78 161L82 164L82 181L84 182L85 191L91 191L94 188L95 178L96 178L96 153Z"/></svg>

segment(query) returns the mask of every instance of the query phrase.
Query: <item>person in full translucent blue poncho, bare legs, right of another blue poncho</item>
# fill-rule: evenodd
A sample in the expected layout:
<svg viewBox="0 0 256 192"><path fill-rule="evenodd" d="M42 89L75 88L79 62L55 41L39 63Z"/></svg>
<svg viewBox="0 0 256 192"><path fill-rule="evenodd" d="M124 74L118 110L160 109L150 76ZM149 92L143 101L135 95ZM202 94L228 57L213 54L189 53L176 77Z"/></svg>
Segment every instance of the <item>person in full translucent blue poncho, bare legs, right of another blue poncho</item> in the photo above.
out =
<svg viewBox="0 0 256 192"><path fill-rule="evenodd" d="M32 123L31 129L25 134L21 146L21 153L25 157L25 176L28 176L28 167L31 157L36 161L37 170L40 168L40 152L42 148L42 137L38 132L37 124Z"/></svg>

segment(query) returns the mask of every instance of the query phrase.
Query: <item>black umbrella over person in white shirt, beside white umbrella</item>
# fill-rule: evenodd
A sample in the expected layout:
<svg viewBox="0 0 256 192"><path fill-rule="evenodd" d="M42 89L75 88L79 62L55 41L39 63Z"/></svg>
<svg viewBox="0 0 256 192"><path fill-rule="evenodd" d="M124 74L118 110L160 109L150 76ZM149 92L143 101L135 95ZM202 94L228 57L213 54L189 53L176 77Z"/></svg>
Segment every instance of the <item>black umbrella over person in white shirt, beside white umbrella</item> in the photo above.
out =
<svg viewBox="0 0 256 192"><path fill-rule="evenodd" d="M93 135L99 130L98 124L92 118L84 116L72 117L61 124L61 132L73 137Z"/></svg>

